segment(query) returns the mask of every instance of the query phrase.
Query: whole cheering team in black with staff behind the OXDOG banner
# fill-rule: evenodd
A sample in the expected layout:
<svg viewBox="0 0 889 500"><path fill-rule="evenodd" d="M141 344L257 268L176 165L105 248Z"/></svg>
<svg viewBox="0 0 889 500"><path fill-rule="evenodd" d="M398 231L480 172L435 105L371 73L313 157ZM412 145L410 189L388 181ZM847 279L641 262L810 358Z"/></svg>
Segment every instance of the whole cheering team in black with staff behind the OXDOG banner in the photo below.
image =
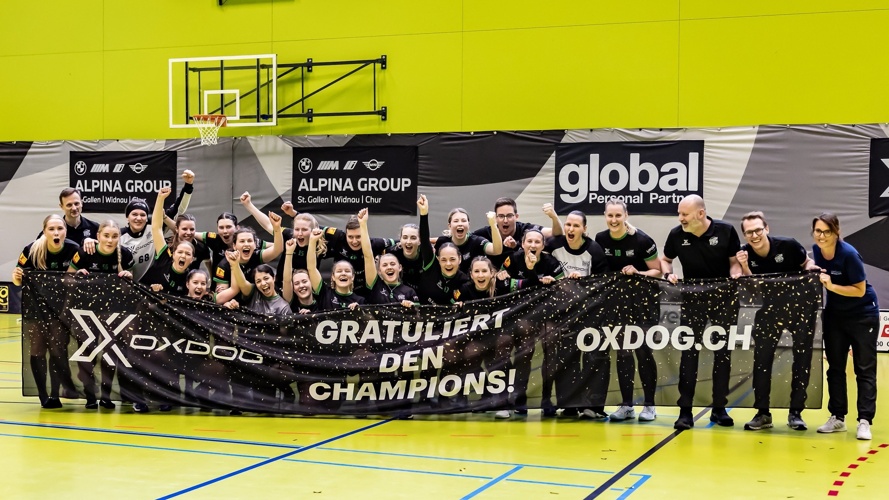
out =
<svg viewBox="0 0 889 500"><path fill-rule="evenodd" d="M433 238L429 202L420 196L419 224L405 224L397 239L389 239L370 236L367 209L361 210L344 229L338 229L320 227L312 215L298 213L287 202L281 209L293 218L293 226L284 228L281 216L273 212L263 214L253 205L250 195L244 193L241 203L272 234L269 243L253 229L239 226L237 217L229 212L219 215L215 231L198 232L194 217L186 213L194 174L186 171L183 181L176 202L166 211L169 188L158 192L153 210L144 200L131 201L126 207L124 228L113 220L97 224L83 217L80 193L72 188L63 190L59 201L64 215L53 214L44 219L42 233L22 251L13 281L20 285L30 269L114 273L156 292L212 301L232 309L289 315L362 304L461 304L530 286L546 286L560 279L607 272L677 283L679 278L673 273L675 259L681 262L685 279L812 271L819 273L827 290L822 323L831 417L818 432L846 430L845 367L851 348L858 384L857 435L859 439L871 438L870 425L876 408L879 308L876 294L867 283L863 261L842 240L839 220L833 214L824 213L812 220L814 245L809 257L798 241L770 235L761 212L751 212L740 221L746 241L742 245L731 224L709 217L704 200L690 195L679 203L679 225L670 231L661 253L650 236L628 223L626 206L619 200L606 204L606 229L594 237L587 235L587 216L582 212L573 211L562 221L546 204L543 212L551 224L542 227L518 220L515 201L499 198L494 210L486 214L485 227L471 231L469 214L455 208L448 214L445 235ZM170 238L165 238L166 231L171 233ZM330 281L325 282L319 263L328 258L334 263ZM273 267L276 260L277 267ZM682 298L681 322L692 328L696 340L700 340L708 323L726 327L736 323L737 307L733 309L727 304L736 305L737 301L725 300L719 293L694 291L683 291ZM788 318L787 308L779 311L770 304L764 304L757 312L753 387L758 412L745 424L747 430L772 427L771 366L785 329L794 339L788 425L797 430L807 428L801 413L810 376L814 314L805 310L789 313ZM779 314L781 321L776 320ZM30 365L41 404L44 408L59 408L60 395L77 394L68 365L69 331L60 325L44 325L39 332L24 334L29 336ZM527 353L533 352L533 342L533 337L498 339L499 352L515 352L510 362L517 379L526 380L530 374L531 358ZM474 351L465 352L471 356ZM558 353L558 348L544 346L542 408L547 417L556 416L560 408L558 387L557 400L552 401L552 369L548 368L558 361ZM696 349L682 352L676 429L694 425L692 401L698 379L698 354ZM478 362L490 363L491 358L486 356L489 355L481 354ZM633 401L637 362L644 396L638 417ZM601 359L594 363L598 363L602 373L593 384L604 383L606 387L598 387L593 393L604 394L610 365ZM710 420L722 426L734 425L726 411L730 370L728 348L715 351ZM97 384L92 364L79 363L78 378L83 384L86 407L114 408L114 367L103 360L100 372L101 381ZM595 420L654 420L657 365L651 349L643 345L633 351L618 351L617 373L622 403L616 411L606 413L602 399L592 401L591 407L561 407L561 415ZM510 418L513 411L526 413L523 397L520 394L511 409L500 409L495 416ZM144 412L148 406L137 401L134 409ZM169 409L166 405L161 407Z"/></svg>

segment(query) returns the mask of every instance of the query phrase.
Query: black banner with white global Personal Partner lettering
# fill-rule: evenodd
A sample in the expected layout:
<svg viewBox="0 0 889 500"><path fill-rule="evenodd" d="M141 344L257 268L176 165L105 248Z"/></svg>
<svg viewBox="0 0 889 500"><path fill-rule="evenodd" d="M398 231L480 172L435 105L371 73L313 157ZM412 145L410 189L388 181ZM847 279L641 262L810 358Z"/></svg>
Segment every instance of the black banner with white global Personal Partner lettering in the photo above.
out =
<svg viewBox="0 0 889 500"><path fill-rule="evenodd" d="M555 208L603 213L617 198L631 214L675 215L704 195L704 141L583 142L556 146Z"/></svg>

